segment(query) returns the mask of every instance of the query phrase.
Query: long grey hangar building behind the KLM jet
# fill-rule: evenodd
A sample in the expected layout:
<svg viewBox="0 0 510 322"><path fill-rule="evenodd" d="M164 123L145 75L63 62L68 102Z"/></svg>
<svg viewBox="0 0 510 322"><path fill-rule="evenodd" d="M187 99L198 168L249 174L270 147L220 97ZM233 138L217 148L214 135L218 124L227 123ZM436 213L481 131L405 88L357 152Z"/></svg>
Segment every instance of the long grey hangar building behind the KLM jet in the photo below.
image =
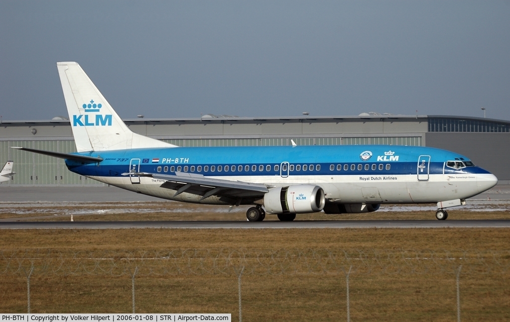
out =
<svg viewBox="0 0 510 322"><path fill-rule="evenodd" d="M431 146L463 154L510 183L510 121L445 115L126 119L133 132L179 146L388 144ZM2 121L0 163L14 161L9 185L104 185L68 171L64 161L9 148L75 152L69 120ZM0 165L1 166L1 165ZM127 170L127 169L126 169ZM5 183L4 183L5 184Z"/></svg>

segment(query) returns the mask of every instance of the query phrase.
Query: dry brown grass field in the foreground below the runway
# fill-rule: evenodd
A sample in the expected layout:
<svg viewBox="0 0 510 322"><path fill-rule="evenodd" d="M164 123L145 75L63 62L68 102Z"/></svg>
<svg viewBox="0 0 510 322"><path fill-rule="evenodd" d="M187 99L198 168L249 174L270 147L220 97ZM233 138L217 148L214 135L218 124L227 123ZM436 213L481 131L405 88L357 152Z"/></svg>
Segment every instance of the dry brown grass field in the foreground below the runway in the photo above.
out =
<svg viewBox="0 0 510 322"><path fill-rule="evenodd" d="M244 250L247 253L260 250L266 255L282 254L281 250L291 253L317 250L339 256L344 251L367 255L364 260L354 259L342 266L344 269L353 266L349 278L352 321L456 320L455 269L461 264L462 320L510 319L508 229L122 229L3 230L0 233L1 312L27 311L27 278L19 270L9 273L16 265L30 268L31 260L22 259L23 256L8 260L9 255L18 252L64 254L64 260L56 258L51 265L59 260L72 260L73 254L84 252L118 254L112 263L127 265L123 261L126 253L162 250ZM372 258L370 254L374 253L378 256ZM402 254L414 254L420 259L417 264L410 264L412 261L403 259ZM429 258L430 254L433 258ZM176 260L185 267L185 261L190 259ZM130 275L59 274L54 267L44 270L35 263L31 277L32 313L131 312ZM136 263L132 261L131 268ZM210 261L201 263L209 265ZM254 259L247 260L245 265L250 263L255 263ZM283 274L247 269L241 283L243 319L345 320L343 271L314 270L310 274L302 269L307 264L310 263L295 260L292 264L295 269ZM159 269L156 266L160 264L146 261L145 265ZM404 266L406 269L401 271ZM135 280L137 313L218 312L232 313L233 319L238 319L238 279L233 271L225 274L184 271L166 275L141 272Z"/></svg>

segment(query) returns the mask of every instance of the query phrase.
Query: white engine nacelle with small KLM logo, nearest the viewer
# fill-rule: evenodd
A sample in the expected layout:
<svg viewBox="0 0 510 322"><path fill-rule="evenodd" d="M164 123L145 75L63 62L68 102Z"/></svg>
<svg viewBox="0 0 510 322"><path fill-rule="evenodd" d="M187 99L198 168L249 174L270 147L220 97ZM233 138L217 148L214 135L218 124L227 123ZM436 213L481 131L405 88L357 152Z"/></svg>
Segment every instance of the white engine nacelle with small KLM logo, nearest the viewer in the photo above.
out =
<svg viewBox="0 0 510 322"><path fill-rule="evenodd" d="M264 208L267 213L310 213L324 208L324 190L314 185L278 187L264 195Z"/></svg>

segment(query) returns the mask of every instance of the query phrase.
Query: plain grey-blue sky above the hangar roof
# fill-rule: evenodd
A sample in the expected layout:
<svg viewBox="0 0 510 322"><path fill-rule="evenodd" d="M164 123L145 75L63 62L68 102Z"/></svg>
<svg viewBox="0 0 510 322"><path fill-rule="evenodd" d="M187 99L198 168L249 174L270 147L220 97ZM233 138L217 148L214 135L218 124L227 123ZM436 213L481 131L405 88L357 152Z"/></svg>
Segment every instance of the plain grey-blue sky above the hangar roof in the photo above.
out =
<svg viewBox="0 0 510 322"><path fill-rule="evenodd" d="M76 61L122 118L510 120L509 1L0 2L0 115L68 117Z"/></svg>

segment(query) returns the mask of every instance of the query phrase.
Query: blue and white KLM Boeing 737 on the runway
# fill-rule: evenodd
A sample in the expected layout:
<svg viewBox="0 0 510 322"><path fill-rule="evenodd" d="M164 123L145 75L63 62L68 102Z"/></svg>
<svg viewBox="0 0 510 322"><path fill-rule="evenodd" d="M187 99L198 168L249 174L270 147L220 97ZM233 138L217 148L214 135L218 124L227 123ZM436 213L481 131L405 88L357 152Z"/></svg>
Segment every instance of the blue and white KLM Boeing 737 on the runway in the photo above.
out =
<svg viewBox="0 0 510 322"><path fill-rule="evenodd" d="M368 213L381 204L445 208L497 178L460 154L422 146L179 147L132 132L76 62L57 63L76 153L13 147L65 159L81 176L186 203L250 205L249 221L276 214Z"/></svg>

